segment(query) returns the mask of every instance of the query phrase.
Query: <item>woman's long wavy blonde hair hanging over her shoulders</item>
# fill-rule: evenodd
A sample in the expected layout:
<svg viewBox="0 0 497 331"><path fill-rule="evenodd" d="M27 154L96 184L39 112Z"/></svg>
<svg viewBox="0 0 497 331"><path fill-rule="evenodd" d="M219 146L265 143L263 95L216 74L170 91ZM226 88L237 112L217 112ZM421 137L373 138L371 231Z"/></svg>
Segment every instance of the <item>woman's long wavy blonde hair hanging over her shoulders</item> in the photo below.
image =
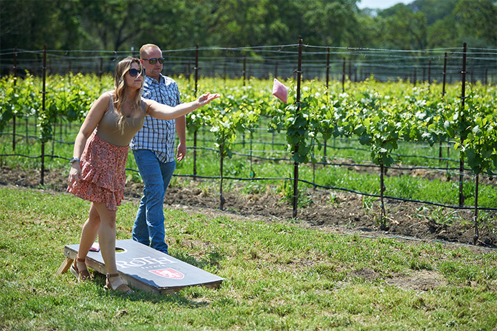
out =
<svg viewBox="0 0 497 331"><path fill-rule="evenodd" d="M137 63L140 70L142 71L142 75L144 75L145 70L142 66L142 63L140 63L139 59L136 59L135 57L126 57L126 59L119 61L115 68L114 109L116 110L117 114L119 114L119 122L117 123L117 127L121 130L121 134L124 134L124 123L126 123L126 114L124 114L123 110L121 109L121 105L126 98L126 94L130 92L128 86L126 86L126 79L124 75L126 75L126 72L130 70L132 63ZM142 91L144 83L145 77L143 77L142 79L142 88L140 88L139 93L137 93L132 103L135 111L142 110Z"/></svg>

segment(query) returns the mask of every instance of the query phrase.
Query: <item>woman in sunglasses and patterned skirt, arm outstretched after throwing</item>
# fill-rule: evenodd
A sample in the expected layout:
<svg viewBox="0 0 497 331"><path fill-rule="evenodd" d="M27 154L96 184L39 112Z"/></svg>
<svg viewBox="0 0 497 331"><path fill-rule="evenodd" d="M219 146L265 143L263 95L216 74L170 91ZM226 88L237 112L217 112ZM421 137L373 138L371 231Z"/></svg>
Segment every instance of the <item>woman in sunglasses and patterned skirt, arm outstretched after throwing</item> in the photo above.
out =
<svg viewBox="0 0 497 331"><path fill-rule="evenodd" d="M220 95L207 93L175 108L142 99L144 69L139 59L132 57L117 63L114 81L115 90L102 94L95 101L75 141L68 192L92 203L70 270L78 281L90 278L86 254L98 235L107 269L106 289L132 292L121 281L115 262L116 210L124 195L128 144L142 128L145 115L175 119Z"/></svg>

